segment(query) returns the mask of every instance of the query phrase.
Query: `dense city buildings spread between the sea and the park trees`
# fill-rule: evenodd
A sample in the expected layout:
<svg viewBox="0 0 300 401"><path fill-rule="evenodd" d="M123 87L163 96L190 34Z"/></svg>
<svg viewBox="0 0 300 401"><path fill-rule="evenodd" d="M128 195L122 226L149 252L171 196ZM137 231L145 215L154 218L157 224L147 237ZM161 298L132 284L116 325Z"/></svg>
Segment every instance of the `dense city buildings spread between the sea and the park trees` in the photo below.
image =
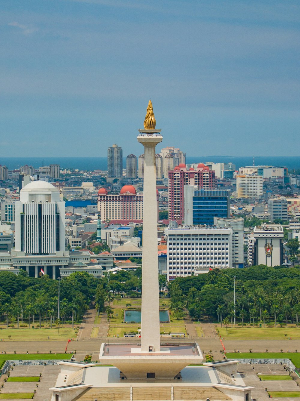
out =
<svg viewBox="0 0 300 401"><path fill-rule="evenodd" d="M160 274L172 280L212 269L292 265L285 243L300 233L299 176L284 166L186 164L173 146L155 160ZM0 166L0 270L55 279L136 269L143 178L144 154L129 154L124 169L117 144L108 148L107 171ZM256 224L244 224L249 220Z"/></svg>

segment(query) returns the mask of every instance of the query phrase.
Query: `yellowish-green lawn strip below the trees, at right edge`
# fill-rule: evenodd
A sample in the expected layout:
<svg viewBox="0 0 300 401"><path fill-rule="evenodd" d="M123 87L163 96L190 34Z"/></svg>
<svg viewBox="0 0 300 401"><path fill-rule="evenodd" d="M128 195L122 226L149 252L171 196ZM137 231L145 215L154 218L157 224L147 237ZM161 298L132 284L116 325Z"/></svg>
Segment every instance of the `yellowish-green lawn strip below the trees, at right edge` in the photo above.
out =
<svg viewBox="0 0 300 401"><path fill-rule="evenodd" d="M221 337L225 338L226 340L230 339L272 339L272 340L288 340L288 338L292 338L292 340L300 339L300 328L296 328L294 326L288 327L280 327L277 326L266 326L266 327L228 327L227 334L226 334L226 327L217 326L217 330L220 330ZM286 334L286 335L285 335Z"/></svg>

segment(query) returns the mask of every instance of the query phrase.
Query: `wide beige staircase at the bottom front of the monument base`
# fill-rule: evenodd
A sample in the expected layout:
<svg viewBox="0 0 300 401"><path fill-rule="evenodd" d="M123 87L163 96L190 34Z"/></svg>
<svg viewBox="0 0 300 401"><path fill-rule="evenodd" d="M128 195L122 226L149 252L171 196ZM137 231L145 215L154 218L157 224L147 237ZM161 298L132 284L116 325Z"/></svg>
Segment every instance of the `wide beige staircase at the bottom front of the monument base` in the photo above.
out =
<svg viewBox="0 0 300 401"><path fill-rule="evenodd" d="M230 397L215 387L175 387L174 401L232 401ZM132 398L130 387L102 387L86 389L73 401L170 401L171 387L132 387Z"/></svg>

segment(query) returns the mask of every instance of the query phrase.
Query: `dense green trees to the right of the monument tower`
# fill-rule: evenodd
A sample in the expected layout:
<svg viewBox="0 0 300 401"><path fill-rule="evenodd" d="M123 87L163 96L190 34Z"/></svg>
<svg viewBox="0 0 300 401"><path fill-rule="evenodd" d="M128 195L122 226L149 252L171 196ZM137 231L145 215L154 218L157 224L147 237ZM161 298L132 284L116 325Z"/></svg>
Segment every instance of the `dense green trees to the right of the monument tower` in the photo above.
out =
<svg viewBox="0 0 300 401"><path fill-rule="evenodd" d="M234 305L234 277L236 304ZM215 269L191 277L178 277L169 283L171 308L175 313L188 310L191 318L219 320L232 324L236 317L277 326L293 322L300 314L300 266L252 266L245 269ZM234 314L235 310L235 314Z"/></svg>

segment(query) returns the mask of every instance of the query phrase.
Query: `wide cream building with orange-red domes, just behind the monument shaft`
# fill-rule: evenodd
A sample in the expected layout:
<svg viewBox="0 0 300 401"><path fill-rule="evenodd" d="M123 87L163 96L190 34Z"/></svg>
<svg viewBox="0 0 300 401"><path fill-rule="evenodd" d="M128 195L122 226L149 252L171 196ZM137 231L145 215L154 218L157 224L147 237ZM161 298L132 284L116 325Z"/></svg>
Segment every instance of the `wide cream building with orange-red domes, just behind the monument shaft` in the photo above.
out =
<svg viewBox="0 0 300 401"><path fill-rule="evenodd" d="M158 191L156 191L158 219ZM105 188L98 190L98 211L102 221L114 223L142 223L143 194L136 193L133 185L124 185L120 194L108 194Z"/></svg>

